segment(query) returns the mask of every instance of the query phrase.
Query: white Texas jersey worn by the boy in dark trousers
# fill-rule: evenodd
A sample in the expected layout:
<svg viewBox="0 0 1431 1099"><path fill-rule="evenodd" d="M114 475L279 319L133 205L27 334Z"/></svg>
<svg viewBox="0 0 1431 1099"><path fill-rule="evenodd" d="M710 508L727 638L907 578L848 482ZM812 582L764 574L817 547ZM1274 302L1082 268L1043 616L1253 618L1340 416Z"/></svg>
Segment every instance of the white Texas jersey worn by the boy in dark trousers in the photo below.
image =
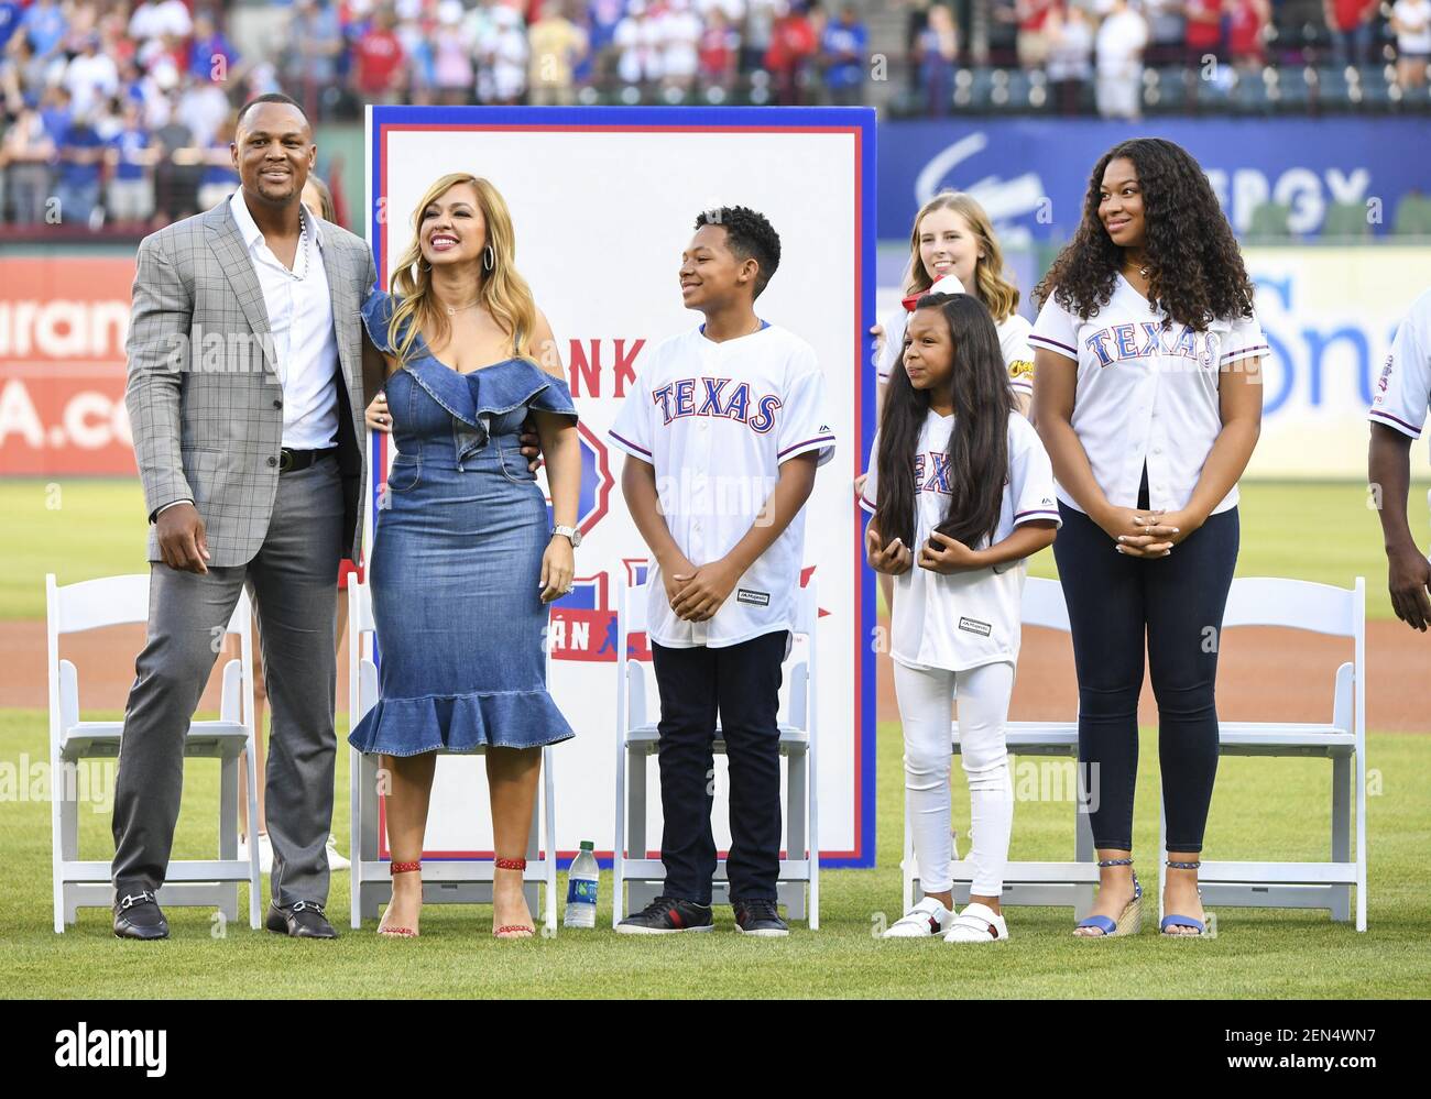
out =
<svg viewBox="0 0 1431 1099"><path fill-rule="evenodd" d="M728 554L776 488L780 465L834 456L824 375L814 349L764 323L716 343L701 328L651 353L610 431L611 442L655 467L661 512L693 565ZM804 509L741 575L704 622L675 615L660 565L650 570L648 637L673 648L721 648L794 624L804 564Z"/></svg>

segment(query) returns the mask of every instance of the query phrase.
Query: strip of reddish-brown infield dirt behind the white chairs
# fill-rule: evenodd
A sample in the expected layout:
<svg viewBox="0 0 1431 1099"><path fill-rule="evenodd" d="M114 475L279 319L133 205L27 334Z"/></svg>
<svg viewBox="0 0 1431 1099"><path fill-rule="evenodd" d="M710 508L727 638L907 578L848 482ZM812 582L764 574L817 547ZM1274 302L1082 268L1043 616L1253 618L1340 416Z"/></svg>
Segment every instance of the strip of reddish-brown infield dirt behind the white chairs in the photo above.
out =
<svg viewBox="0 0 1431 1099"><path fill-rule="evenodd" d="M80 707L117 710L133 681L133 654L143 645L143 627L112 627L66 638L60 655L79 670ZM1351 643L1294 630L1228 630L1218 674L1218 713L1224 720L1327 721L1332 677L1351 660ZM1381 733L1431 731L1431 634L1402 622L1367 622L1367 727ZM0 707L47 705L44 622L0 622ZM346 711L345 661L338 668L339 710ZM219 705L218 674L203 707ZM1023 634L1019 678L1013 690L1015 720L1072 720L1078 713L1073 651L1068 637L1030 628ZM889 661L880 658L879 717L896 720ZM1143 724L1155 724L1152 688L1143 684Z"/></svg>

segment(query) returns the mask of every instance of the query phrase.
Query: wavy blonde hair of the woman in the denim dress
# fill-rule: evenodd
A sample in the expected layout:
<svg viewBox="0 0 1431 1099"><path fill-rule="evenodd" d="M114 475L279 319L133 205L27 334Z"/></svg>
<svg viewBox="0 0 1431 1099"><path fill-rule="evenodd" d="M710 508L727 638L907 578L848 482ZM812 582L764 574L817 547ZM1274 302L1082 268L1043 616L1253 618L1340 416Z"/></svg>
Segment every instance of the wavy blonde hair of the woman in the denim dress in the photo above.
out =
<svg viewBox="0 0 1431 1099"><path fill-rule="evenodd" d="M422 258L421 232L422 212L458 183L471 183L477 190L477 205L487 222L487 243L492 246L492 269L487 270L485 265L479 269L481 305L502 331L511 333L512 356L535 362L532 329L537 325L537 303L527 279L517 270L512 215L491 182L465 172L451 172L436 179L412 212L412 243L398 258L396 273L392 276L395 308L388 322L388 345L396 349L399 362L406 362L422 329L435 332L438 342L446 343L451 326L446 311L438 306L432 295L432 265ZM482 259L478 258L477 262L481 265Z"/></svg>

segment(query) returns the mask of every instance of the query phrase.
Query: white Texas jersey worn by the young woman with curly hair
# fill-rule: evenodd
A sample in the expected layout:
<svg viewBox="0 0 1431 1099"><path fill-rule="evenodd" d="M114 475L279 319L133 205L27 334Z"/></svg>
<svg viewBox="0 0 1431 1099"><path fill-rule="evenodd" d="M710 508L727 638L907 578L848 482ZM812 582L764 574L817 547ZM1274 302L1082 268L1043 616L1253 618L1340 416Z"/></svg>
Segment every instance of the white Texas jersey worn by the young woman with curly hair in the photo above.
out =
<svg viewBox="0 0 1431 1099"><path fill-rule="evenodd" d="M1212 321L1196 332L1162 311L1122 275L1113 296L1086 321L1049 295L1029 342L1078 362L1073 432L1108 502L1138 507L1148 467L1148 507L1178 511L1192 498L1222 431L1221 368L1266 355L1256 316ZM1059 485L1059 499L1082 511ZM1212 509L1238 502L1238 487Z"/></svg>

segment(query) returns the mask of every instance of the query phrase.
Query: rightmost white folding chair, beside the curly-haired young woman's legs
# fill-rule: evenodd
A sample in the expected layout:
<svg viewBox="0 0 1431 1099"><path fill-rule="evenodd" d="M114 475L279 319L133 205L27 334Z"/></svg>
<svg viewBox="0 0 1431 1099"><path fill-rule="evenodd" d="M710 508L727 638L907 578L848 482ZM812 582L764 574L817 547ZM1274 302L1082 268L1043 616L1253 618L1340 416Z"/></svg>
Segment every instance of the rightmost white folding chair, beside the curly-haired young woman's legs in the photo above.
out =
<svg viewBox="0 0 1431 1099"><path fill-rule="evenodd" d="M1331 860L1314 863L1203 861L1198 871L1209 907L1328 909L1334 920L1351 919L1357 887L1357 930L1367 930L1367 582L1351 588L1301 580L1232 581L1224 631L1244 625L1308 630L1352 641L1352 660L1337 668L1332 714L1327 724L1224 721L1224 756L1295 756L1332 761ZM1355 767L1355 776L1354 776ZM1351 849L1355 813L1357 850ZM1166 817L1159 851L1166 850ZM1159 859L1158 884L1168 867Z"/></svg>

